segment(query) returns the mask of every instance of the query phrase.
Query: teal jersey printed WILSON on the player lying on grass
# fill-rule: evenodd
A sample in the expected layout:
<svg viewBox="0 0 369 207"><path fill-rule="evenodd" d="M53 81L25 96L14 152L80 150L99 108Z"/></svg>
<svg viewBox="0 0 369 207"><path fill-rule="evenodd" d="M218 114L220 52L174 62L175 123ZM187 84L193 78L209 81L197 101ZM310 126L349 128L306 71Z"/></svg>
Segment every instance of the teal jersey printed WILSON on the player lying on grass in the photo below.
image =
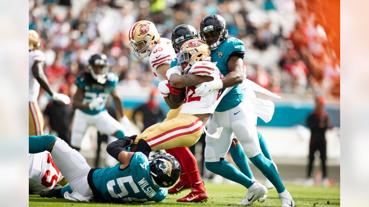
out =
<svg viewBox="0 0 369 207"><path fill-rule="evenodd" d="M120 164L96 169L92 181L107 202L130 203L132 201L159 202L165 199L168 189L158 188L152 182L149 162L142 152L136 152L125 169Z"/></svg>

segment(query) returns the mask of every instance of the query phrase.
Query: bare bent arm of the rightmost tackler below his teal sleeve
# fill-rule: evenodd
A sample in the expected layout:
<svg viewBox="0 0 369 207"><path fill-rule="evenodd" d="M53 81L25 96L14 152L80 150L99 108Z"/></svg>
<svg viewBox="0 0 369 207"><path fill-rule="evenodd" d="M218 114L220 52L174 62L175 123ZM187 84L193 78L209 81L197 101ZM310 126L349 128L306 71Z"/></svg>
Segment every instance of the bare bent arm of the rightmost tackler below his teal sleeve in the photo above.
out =
<svg viewBox="0 0 369 207"><path fill-rule="evenodd" d="M244 61L239 56L231 56L227 61L228 70L230 73L225 75L221 80L223 88L232 87L242 83L244 80Z"/></svg>

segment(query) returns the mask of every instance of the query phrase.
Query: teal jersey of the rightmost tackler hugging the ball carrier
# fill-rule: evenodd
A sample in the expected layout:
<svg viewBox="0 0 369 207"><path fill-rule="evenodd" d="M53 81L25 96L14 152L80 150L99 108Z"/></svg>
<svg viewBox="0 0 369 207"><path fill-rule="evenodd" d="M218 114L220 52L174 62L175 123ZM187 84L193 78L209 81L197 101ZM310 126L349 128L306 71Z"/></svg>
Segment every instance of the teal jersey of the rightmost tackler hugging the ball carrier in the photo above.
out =
<svg viewBox="0 0 369 207"><path fill-rule="evenodd" d="M227 60L232 52L244 51L244 43L234 37L227 38L221 45L215 49L211 50L211 62L215 63L223 76L230 73ZM243 57L242 57L243 58ZM222 89L222 93L225 89ZM239 103L244 99L244 93L242 92L241 84L235 85L228 94L226 94L223 99L219 102L219 105L215 109L217 112L223 112L238 106Z"/></svg>

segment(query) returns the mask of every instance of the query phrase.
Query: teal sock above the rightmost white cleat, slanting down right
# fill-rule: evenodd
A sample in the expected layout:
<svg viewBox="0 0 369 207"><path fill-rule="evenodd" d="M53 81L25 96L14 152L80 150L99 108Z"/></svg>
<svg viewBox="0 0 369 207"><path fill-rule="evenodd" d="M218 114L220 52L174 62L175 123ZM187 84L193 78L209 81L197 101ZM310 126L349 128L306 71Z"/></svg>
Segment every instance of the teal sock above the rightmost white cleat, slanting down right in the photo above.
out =
<svg viewBox="0 0 369 207"><path fill-rule="evenodd" d="M282 193L286 189L284 188L283 183L279 178L275 166L262 153L249 159L251 160L252 164L254 164L266 178L268 178L268 180L274 185L274 187L276 187L278 193Z"/></svg>

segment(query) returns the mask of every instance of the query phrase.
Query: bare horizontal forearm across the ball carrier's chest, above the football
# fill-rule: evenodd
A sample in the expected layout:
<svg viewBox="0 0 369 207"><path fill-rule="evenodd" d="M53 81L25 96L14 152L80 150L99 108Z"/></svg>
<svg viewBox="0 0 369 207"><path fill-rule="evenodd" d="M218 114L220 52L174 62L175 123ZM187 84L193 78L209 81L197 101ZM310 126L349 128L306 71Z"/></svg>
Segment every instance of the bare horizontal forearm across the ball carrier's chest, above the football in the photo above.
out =
<svg viewBox="0 0 369 207"><path fill-rule="evenodd" d="M183 88L188 86L198 85L204 82L214 80L211 76L198 76L192 73L187 73L182 76L178 74L172 74L170 76L170 84L176 88Z"/></svg>

